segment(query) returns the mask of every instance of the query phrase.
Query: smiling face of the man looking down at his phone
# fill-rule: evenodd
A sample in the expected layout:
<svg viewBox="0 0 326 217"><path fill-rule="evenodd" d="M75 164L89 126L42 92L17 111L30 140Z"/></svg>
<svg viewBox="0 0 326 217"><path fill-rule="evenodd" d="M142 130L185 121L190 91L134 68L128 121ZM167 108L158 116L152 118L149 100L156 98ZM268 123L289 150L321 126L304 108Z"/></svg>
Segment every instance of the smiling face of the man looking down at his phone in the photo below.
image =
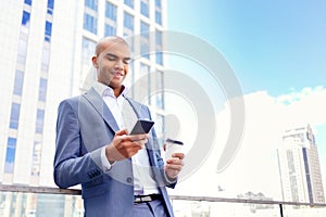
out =
<svg viewBox="0 0 326 217"><path fill-rule="evenodd" d="M98 81L111 88L120 88L128 72L130 61L129 48L115 41L108 41L101 46L101 52L92 62L98 71Z"/></svg>

